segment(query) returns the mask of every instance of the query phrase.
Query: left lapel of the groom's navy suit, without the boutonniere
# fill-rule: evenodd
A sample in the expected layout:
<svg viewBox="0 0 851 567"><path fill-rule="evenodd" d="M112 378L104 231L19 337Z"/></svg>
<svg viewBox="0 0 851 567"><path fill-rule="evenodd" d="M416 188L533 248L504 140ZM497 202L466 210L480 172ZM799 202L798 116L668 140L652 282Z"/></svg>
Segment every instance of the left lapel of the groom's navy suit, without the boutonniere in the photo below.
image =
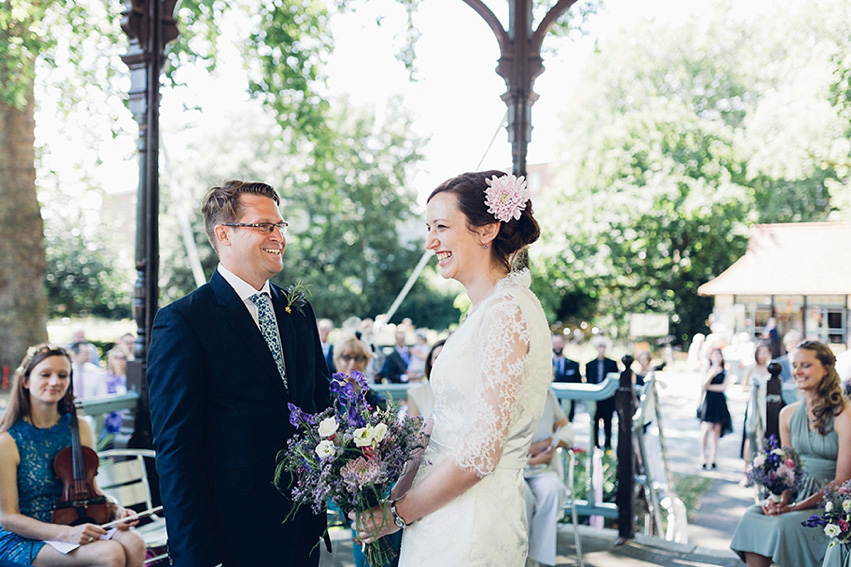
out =
<svg viewBox="0 0 851 567"><path fill-rule="evenodd" d="M275 364L275 359L269 351L269 345L266 344L266 339L263 338L263 334L257 327L257 323L255 323L254 319L252 319L251 314L239 298L239 295L237 295L230 284L225 281L218 271L214 272L213 277L210 278L210 287L213 288L213 291L216 294L222 318L231 325L235 335L245 342L251 356L257 363L256 365L252 365L248 362L246 364L246 369L249 369L252 366L257 367L259 374L263 374L264 376L269 376L274 379L280 386L281 391L286 393L284 382L281 380L281 374L278 372L278 365ZM281 321L277 313L278 310L276 309L275 315L278 318L278 325L280 326ZM283 333L281 338L283 339ZM284 354L286 354L286 352L287 348L284 346Z"/></svg>

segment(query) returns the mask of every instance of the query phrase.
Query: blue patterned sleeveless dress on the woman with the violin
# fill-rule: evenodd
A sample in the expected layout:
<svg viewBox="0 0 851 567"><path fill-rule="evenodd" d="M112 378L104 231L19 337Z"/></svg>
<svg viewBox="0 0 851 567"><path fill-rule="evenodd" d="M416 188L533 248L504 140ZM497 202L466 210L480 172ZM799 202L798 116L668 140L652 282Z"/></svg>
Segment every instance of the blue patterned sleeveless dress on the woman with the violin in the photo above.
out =
<svg viewBox="0 0 851 567"><path fill-rule="evenodd" d="M62 482L53 471L56 454L71 445L71 417L66 413L53 427L39 429L19 419L8 430L15 440L18 465L18 509L42 522L50 521L50 507L62 494ZM0 527L0 559L31 565L43 541L19 536Z"/></svg>

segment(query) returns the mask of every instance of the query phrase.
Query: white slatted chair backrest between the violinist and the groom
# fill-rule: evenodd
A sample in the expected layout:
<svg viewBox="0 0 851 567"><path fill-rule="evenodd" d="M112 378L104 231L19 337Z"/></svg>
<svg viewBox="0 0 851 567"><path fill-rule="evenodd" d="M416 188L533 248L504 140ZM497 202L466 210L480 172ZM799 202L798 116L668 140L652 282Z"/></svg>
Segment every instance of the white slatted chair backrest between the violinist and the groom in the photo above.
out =
<svg viewBox="0 0 851 567"><path fill-rule="evenodd" d="M115 498L125 508L144 505L153 508L151 487L145 459L153 459L150 449L112 449L98 453L100 466L96 477L98 487Z"/></svg>

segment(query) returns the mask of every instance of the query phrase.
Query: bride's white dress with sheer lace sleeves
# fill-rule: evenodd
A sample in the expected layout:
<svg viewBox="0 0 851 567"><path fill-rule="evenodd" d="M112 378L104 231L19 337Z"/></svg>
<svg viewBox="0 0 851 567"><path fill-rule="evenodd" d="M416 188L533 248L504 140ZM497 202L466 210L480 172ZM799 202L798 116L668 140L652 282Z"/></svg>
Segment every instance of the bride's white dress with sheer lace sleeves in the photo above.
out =
<svg viewBox="0 0 851 567"><path fill-rule="evenodd" d="M482 480L405 529L400 567L525 565L523 467L552 380L549 328L529 283L528 270L500 281L432 369L434 429L414 485L444 459Z"/></svg>

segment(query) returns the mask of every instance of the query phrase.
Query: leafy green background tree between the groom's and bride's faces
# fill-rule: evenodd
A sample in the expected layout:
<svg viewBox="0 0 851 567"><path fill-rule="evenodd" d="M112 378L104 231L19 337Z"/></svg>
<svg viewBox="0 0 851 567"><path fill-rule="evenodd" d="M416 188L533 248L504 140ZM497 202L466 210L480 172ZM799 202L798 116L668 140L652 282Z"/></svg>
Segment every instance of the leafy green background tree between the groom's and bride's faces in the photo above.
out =
<svg viewBox="0 0 851 567"><path fill-rule="evenodd" d="M407 180L421 141L410 136L398 107L388 109L383 128L345 104L334 118L332 153L307 160L282 188L294 228L282 280L310 284L323 312L375 315L389 307L421 254L400 234L412 215Z"/></svg>

